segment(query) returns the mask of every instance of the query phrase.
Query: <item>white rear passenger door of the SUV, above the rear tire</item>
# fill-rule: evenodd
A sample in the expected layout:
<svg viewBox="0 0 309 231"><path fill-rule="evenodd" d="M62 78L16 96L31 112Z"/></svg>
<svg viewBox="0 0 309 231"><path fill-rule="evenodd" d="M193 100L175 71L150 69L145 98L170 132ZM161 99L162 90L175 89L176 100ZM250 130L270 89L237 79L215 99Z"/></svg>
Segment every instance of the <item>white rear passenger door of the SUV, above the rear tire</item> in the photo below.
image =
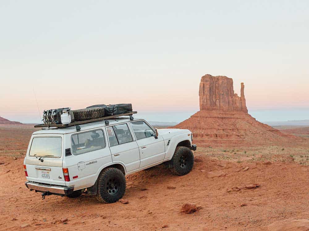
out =
<svg viewBox="0 0 309 231"><path fill-rule="evenodd" d="M138 145L133 140L128 124L109 126L106 130L113 163L124 164L126 172L138 169L140 166Z"/></svg>

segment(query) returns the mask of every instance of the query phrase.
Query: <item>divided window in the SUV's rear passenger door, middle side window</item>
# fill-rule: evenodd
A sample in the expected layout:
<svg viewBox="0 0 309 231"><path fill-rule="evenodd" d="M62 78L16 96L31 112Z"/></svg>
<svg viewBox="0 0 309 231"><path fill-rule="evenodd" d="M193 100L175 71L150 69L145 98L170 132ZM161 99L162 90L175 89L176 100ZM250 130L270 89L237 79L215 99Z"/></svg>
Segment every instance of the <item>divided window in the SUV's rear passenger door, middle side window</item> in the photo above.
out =
<svg viewBox="0 0 309 231"><path fill-rule="evenodd" d="M107 128L110 146L125 144L133 141L128 124L120 124Z"/></svg>

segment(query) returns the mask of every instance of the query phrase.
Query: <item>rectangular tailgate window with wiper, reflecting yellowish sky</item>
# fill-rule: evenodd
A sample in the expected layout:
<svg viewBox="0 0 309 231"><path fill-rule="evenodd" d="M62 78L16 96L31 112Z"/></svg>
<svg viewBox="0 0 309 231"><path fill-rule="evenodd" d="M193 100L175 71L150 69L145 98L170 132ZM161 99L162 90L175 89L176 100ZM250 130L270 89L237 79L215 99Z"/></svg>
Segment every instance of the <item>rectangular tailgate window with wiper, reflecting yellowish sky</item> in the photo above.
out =
<svg viewBox="0 0 309 231"><path fill-rule="evenodd" d="M61 156L61 137L34 137L29 156Z"/></svg>

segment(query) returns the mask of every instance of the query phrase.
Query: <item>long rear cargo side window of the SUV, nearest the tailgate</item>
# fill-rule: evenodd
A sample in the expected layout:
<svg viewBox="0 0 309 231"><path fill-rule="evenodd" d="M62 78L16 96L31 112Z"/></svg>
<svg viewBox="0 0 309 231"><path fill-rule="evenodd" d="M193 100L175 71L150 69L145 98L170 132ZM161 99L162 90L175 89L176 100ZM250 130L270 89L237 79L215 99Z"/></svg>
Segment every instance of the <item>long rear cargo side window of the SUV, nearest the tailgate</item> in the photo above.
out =
<svg viewBox="0 0 309 231"><path fill-rule="evenodd" d="M72 136L72 152L74 155L104 147L105 139L102 130L83 132Z"/></svg>

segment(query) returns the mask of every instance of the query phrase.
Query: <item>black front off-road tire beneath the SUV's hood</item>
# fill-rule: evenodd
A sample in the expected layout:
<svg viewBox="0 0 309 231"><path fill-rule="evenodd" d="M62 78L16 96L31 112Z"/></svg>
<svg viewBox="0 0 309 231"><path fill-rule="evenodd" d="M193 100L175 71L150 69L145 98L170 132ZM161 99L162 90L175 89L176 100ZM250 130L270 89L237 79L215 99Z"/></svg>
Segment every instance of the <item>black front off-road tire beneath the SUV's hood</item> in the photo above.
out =
<svg viewBox="0 0 309 231"><path fill-rule="evenodd" d="M194 156L190 148L177 147L172 158L174 172L183 176L188 174L193 168Z"/></svg>

